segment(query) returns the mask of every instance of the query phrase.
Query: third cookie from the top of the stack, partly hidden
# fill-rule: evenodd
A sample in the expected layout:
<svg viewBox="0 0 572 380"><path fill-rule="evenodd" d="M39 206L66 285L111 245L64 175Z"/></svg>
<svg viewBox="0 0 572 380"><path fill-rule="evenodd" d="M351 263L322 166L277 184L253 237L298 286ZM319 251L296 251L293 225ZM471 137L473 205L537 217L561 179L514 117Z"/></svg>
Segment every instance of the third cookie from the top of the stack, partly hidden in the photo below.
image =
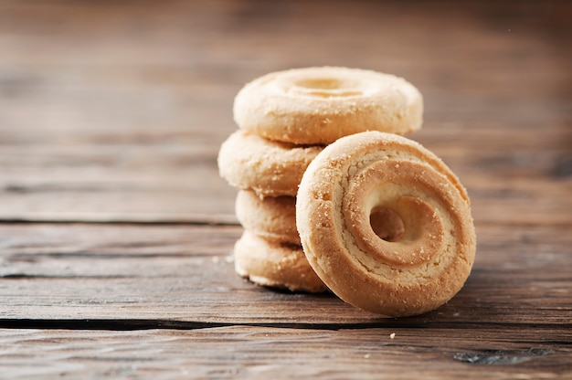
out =
<svg viewBox="0 0 572 380"><path fill-rule="evenodd" d="M294 196L260 198L253 191L242 190L238 192L235 209L242 227L252 233L300 246Z"/></svg>

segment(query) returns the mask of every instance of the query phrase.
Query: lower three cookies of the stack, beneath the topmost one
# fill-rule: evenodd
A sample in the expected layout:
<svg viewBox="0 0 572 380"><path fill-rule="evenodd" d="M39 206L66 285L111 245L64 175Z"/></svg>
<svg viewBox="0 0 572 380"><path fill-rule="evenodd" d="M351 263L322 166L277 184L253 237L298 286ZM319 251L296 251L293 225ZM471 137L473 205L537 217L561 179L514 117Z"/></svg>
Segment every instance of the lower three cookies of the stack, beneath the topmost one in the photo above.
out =
<svg viewBox="0 0 572 380"><path fill-rule="evenodd" d="M236 214L244 227L234 249L240 276L292 291L326 290L304 256L296 229L298 185L321 150L244 130L232 133L221 145L218 167L238 188Z"/></svg>

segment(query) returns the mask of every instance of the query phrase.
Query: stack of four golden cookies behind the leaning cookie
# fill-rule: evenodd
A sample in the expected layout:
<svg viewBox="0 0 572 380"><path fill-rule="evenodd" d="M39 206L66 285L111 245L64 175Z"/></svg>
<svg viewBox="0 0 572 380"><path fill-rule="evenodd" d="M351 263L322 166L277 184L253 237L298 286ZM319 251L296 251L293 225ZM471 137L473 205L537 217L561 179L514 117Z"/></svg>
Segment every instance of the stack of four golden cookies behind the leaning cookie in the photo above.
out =
<svg viewBox="0 0 572 380"><path fill-rule="evenodd" d="M264 286L327 290L304 255L296 227L302 175L339 138L414 132L422 113L414 86L375 71L291 69L248 83L234 103L239 129L218 154L220 175L238 188L236 213L244 227L234 252L238 274Z"/></svg>

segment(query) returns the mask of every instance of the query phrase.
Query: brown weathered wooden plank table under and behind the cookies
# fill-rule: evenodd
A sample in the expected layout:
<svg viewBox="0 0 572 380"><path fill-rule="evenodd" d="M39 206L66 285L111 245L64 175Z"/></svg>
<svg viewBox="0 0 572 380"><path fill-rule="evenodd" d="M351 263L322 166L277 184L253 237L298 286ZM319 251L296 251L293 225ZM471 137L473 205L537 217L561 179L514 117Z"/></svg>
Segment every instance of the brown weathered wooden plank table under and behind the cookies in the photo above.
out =
<svg viewBox="0 0 572 380"><path fill-rule="evenodd" d="M572 378L572 3L0 2L3 378ZM477 259L385 318L234 272L242 85L407 78ZM393 335L395 334L395 335ZM393 338L392 338L393 337Z"/></svg>

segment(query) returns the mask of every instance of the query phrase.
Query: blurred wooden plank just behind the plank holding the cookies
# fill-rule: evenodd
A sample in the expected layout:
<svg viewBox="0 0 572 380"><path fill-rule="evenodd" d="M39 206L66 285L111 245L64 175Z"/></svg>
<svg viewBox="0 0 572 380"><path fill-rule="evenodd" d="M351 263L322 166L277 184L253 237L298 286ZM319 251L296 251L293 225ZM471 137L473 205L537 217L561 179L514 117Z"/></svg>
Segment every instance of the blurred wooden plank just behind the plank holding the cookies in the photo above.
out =
<svg viewBox="0 0 572 380"><path fill-rule="evenodd" d="M572 161L566 151L548 149L557 136L537 139L544 151L486 150L489 140L476 136L474 148L426 146L435 144L433 152L468 188L477 223L572 224ZM0 219L236 223L236 189L218 176L217 149L201 142L188 149L4 148Z"/></svg>

